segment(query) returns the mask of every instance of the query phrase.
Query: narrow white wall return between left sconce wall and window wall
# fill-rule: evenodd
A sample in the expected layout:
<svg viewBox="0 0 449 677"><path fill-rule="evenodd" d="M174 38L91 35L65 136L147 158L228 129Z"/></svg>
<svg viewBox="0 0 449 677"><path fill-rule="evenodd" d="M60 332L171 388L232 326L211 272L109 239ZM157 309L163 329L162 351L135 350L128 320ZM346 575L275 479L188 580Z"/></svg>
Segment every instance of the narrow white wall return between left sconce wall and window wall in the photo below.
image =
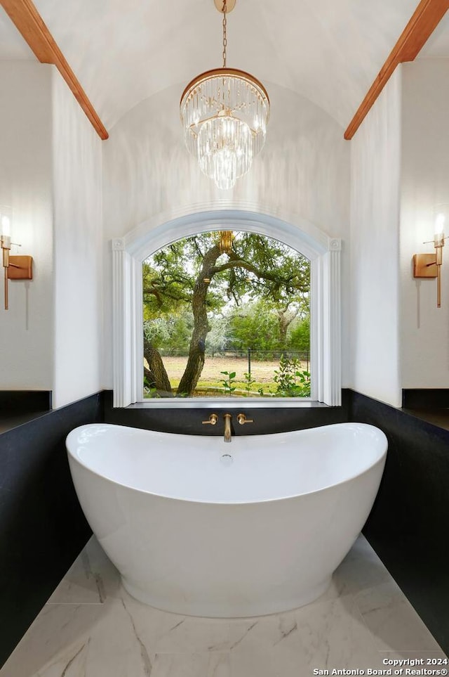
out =
<svg viewBox="0 0 449 677"><path fill-rule="evenodd" d="M53 71L53 406L102 388L102 142Z"/></svg>

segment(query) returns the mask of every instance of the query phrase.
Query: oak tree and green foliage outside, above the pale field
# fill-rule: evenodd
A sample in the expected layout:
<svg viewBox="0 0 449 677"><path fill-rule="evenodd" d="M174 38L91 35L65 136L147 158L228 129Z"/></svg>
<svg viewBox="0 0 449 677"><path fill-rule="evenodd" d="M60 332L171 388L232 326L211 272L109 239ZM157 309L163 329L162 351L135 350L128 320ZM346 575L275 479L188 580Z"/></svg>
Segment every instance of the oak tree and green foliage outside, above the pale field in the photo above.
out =
<svg viewBox="0 0 449 677"><path fill-rule="evenodd" d="M177 394L192 396L206 349L286 349L293 337L295 344L308 341L309 261L277 240L234 233L224 252L219 233L201 233L163 247L142 273L145 378L163 394L172 387L162 351L185 351Z"/></svg>

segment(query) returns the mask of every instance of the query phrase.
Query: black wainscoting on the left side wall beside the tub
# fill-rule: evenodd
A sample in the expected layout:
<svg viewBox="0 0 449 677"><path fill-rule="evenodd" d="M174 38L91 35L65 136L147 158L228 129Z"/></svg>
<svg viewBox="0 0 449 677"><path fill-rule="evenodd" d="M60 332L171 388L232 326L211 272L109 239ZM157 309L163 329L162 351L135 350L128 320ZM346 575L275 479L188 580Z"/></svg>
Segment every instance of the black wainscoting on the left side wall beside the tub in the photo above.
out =
<svg viewBox="0 0 449 677"><path fill-rule="evenodd" d="M102 419L96 394L0 434L0 666L91 535L65 437Z"/></svg>

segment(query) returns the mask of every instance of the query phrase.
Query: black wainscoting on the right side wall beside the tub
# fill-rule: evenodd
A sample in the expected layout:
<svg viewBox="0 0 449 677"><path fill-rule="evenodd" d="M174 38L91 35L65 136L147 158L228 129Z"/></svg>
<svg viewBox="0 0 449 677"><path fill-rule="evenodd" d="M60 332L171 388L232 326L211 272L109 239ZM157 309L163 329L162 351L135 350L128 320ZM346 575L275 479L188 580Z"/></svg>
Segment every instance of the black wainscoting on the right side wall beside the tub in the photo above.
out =
<svg viewBox="0 0 449 677"><path fill-rule="evenodd" d="M448 654L449 431L357 392L349 417L389 441L363 533Z"/></svg>

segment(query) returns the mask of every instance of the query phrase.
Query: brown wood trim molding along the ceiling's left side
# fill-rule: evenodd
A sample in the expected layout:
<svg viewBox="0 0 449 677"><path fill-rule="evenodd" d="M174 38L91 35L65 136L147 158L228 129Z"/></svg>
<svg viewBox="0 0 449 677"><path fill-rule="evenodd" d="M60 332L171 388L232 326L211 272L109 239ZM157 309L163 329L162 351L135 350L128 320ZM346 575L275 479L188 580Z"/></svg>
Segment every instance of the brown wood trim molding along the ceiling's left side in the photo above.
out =
<svg viewBox="0 0 449 677"><path fill-rule="evenodd" d="M98 136L103 140L108 138L107 129L32 1L0 0L0 4L39 61L53 63L58 68Z"/></svg>

